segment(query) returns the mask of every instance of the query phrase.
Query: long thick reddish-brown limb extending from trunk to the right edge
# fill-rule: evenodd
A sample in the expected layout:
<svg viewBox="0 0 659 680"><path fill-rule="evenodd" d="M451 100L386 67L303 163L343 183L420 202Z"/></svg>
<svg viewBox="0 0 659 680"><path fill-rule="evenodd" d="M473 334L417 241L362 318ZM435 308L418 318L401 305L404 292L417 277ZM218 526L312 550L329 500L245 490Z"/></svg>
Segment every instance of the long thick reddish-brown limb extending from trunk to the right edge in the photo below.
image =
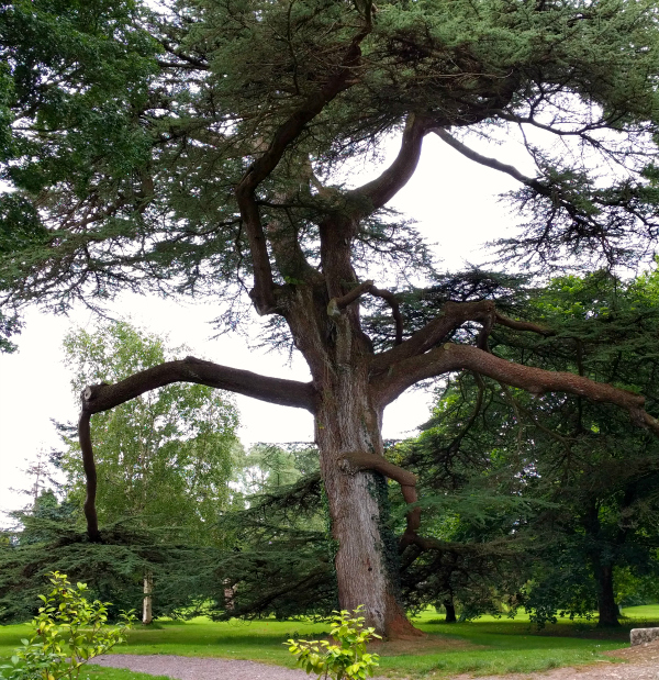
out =
<svg viewBox="0 0 659 680"><path fill-rule="evenodd" d="M388 374L373 377L371 384L376 398L386 405L420 380L457 370L472 370L537 397L545 392L568 392L615 404L626 409L637 425L648 427L659 435L659 421L644 410L645 397L640 394L574 374L506 361L470 345L446 343L426 354L400 361Z"/></svg>

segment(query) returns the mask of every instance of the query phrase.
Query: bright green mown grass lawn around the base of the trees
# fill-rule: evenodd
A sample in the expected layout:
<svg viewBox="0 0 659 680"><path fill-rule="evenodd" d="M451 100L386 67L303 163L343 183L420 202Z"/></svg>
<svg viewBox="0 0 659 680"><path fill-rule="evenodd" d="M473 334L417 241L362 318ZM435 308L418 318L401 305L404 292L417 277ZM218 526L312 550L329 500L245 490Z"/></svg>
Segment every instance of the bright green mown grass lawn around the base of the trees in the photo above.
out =
<svg viewBox="0 0 659 680"><path fill-rule="evenodd" d="M470 623L447 625L427 611L414 622L428 633L426 639L391 643L376 647L381 655L380 675L390 677L442 677L459 672L477 675L532 672L560 666L597 662L600 653L628 645L632 627L659 625L659 605L629 607L617 631L599 631L593 622L561 621L537 632L527 616L515 620L483 616ZM154 627L138 627L129 643L115 648L123 654L177 654L231 659L249 659L293 667L281 643L291 636L313 638L326 634L327 624L298 621L212 623L194 618L186 623L163 621ZM30 635L27 625L0 626L0 657L9 657ZM93 680L147 680L125 670L92 668Z"/></svg>

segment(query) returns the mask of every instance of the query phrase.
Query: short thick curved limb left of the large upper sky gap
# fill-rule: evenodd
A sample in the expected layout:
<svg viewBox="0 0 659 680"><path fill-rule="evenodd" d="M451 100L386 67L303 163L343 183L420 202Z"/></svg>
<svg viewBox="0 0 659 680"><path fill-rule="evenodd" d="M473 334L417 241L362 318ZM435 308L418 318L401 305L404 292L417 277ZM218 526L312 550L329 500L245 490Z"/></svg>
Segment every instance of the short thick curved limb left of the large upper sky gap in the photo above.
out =
<svg viewBox="0 0 659 680"><path fill-rule="evenodd" d="M372 181L348 191L348 198L357 199L357 204L360 205L358 218L364 218L386 205L407 183L418 165L428 125L427 119L410 113L395 160Z"/></svg>

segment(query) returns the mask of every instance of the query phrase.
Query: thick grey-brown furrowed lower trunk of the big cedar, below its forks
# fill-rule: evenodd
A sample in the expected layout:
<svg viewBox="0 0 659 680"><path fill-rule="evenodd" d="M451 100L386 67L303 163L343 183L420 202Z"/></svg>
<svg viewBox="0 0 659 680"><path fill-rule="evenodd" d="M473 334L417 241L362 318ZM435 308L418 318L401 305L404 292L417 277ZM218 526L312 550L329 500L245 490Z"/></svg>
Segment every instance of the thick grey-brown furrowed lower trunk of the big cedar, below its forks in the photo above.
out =
<svg viewBox="0 0 659 680"><path fill-rule="evenodd" d="M381 413L370 403L366 364L337 367L315 420L330 505L342 609L365 607L367 625L386 637L423 635L399 600L398 545L388 526L388 484L379 472L351 469L346 454L382 455Z"/></svg>

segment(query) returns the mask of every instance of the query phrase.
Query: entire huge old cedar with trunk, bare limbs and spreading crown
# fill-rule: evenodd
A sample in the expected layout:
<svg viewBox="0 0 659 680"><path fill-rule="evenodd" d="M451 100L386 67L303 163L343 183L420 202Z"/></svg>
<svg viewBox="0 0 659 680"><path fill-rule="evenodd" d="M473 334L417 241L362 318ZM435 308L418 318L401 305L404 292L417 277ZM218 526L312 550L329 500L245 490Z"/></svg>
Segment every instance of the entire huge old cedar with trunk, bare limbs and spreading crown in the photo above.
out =
<svg viewBox="0 0 659 680"><path fill-rule="evenodd" d="M501 244L511 266L649 256L659 207L655 4L0 4L2 178L15 189L0 210L4 335L24 303L66 311L122 290L175 292L205 297L230 328L249 306L270 316L269 339L300 352L312 375L302 383L187 357L88 386L86 469L91 416L164 384L309 410L340 605L365 604L369 625L396 634L411 626L383 476L409 503L416 478L384 459L381 421L404 390L471 370L533 394L612 403L659 432L640 394L490 350L494 327L552 330L506 315L468 277L444 286L411 223L387 208L436 135L520 183L510 198L522 227ZM505 147L481 153L479 137L516 137L530 170L511 165ZM356 164L375 161L392 138L395 158L359 185ZM428 198L440 211L440 187ZM401 548L420 527L411 509Z"/></svg>

